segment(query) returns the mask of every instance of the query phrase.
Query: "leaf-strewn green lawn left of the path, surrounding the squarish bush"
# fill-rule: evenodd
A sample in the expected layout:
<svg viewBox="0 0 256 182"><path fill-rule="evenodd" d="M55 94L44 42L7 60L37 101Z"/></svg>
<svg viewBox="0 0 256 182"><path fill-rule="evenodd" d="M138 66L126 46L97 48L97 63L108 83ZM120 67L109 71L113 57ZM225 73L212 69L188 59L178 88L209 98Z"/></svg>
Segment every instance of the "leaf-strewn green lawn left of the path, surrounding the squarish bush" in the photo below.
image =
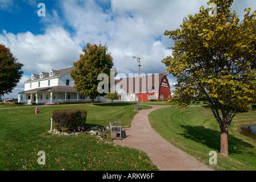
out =
<svg viewBox="0 0 256 182"><path fill-rule="evenodd" d="M86 125L108 126L110 119L129 127L134 105L127 103L74 104L0 109L0 170L157 170L142 151L101 142L95 136L51 135L50 120L55 109L87 110ZM143 106L142 109L149 109ZM46 164L39 165L39 151Z"/></svg>

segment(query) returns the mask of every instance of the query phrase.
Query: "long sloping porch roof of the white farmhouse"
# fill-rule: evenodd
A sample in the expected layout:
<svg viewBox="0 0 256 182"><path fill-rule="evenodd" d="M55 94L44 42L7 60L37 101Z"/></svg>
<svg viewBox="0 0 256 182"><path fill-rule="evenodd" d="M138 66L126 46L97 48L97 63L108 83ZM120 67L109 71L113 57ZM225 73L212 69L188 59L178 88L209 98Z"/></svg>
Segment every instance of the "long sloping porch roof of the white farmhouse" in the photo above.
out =
<svg viewBox="0 0 256 182"><path fill-rule="evenodd" d="M36 92L77 92L73 86L49 86L44 88L31 89L24 92L19 92L19 94L23 93L36 93Z"/></svg>

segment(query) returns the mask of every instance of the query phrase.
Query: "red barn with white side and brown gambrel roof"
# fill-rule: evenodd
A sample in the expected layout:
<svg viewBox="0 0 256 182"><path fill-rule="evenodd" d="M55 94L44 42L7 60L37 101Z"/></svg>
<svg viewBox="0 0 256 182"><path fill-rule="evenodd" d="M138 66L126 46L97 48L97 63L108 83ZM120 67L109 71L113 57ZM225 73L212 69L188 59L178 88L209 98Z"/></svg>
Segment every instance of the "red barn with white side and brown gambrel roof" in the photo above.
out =
<svg viewBox="0 0 256 182"><path fill-rule="evenodd" d="M148 74L139 77L120 78L115 80L115 89L119 101L152 101L171 98L167 73Z"/></svg>

